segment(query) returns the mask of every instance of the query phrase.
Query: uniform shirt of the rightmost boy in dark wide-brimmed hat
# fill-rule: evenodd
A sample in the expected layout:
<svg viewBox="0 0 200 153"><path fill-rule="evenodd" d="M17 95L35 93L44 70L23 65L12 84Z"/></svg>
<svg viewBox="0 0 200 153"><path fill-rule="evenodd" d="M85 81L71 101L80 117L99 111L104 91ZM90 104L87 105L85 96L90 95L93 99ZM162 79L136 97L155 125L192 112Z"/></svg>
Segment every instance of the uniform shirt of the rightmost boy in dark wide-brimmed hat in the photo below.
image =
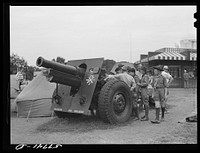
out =
<svg viewBox="0 0 200 153"><path fill-rule="evenodd" d="M154 88L167 88L167 80L161 74L153 77Z"/></svg>

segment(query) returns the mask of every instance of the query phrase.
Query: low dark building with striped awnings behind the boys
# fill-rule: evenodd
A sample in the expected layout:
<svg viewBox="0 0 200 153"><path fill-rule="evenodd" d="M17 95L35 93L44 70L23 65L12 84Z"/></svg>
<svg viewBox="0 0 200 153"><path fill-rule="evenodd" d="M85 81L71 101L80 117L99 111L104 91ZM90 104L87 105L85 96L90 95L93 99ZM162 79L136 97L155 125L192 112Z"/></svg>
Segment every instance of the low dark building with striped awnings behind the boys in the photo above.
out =
<svg viewBox="0 0 200 153"><path fill-rule="evenodd" d="M167 65L169 73L173 76L174 81L171 87L184 87L183 72L186 69L191 76L191 87L196 87L196 71L197 71L197 50L188 48L161 48L154 52L148 52L141 55L140 60L134 65L137 67L139 63L151 68L156 65Z"/></svg>

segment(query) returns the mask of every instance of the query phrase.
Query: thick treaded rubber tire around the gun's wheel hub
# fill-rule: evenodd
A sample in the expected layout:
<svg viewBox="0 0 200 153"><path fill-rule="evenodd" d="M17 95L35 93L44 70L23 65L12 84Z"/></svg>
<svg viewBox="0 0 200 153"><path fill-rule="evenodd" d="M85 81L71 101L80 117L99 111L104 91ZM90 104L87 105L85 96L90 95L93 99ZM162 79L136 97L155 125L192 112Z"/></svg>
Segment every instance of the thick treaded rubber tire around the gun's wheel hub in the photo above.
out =
<svg viewBox="0 0 200 153"><path fill-rule="evenodd" d="M126 106L122 115L117 115L112 107L112 99L115 93L124 95ZM112 79L101 89L98 100L98 111L101 119L106 123L119 124L126 122L132 113L132 96L128 85L120 80Z"/></svg>

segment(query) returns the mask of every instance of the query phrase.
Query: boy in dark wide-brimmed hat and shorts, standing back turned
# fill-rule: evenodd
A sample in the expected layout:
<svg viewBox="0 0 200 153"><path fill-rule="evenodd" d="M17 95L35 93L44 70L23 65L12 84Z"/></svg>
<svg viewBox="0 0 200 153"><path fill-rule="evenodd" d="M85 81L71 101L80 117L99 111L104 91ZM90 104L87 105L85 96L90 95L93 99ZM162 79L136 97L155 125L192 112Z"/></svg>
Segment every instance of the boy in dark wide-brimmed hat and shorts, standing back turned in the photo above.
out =
<svg viewBox="0 0 200 153"><path fill-rule="evenodd" d="M161 108L161 121L164 121L165 113L165 88L167 87L167 80L161 75L163 71L162 66L154 66L154 78L153 78L153 88L154 88L154 100L156 109L156 119L152 120L152 123L160 123L160 108Z"/></svg>

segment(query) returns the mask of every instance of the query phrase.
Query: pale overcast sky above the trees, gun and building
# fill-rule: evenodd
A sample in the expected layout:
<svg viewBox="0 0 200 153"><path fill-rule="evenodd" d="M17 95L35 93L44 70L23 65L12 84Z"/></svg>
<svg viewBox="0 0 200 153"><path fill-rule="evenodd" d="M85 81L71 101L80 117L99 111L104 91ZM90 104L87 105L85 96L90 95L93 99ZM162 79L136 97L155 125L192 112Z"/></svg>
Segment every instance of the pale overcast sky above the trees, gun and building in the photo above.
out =
<svg viewBox="0 0 200 153"><path fill-rule="evenodd" d="M196 6L10 6L10 55L136 62L196 39Z"/></svg>

